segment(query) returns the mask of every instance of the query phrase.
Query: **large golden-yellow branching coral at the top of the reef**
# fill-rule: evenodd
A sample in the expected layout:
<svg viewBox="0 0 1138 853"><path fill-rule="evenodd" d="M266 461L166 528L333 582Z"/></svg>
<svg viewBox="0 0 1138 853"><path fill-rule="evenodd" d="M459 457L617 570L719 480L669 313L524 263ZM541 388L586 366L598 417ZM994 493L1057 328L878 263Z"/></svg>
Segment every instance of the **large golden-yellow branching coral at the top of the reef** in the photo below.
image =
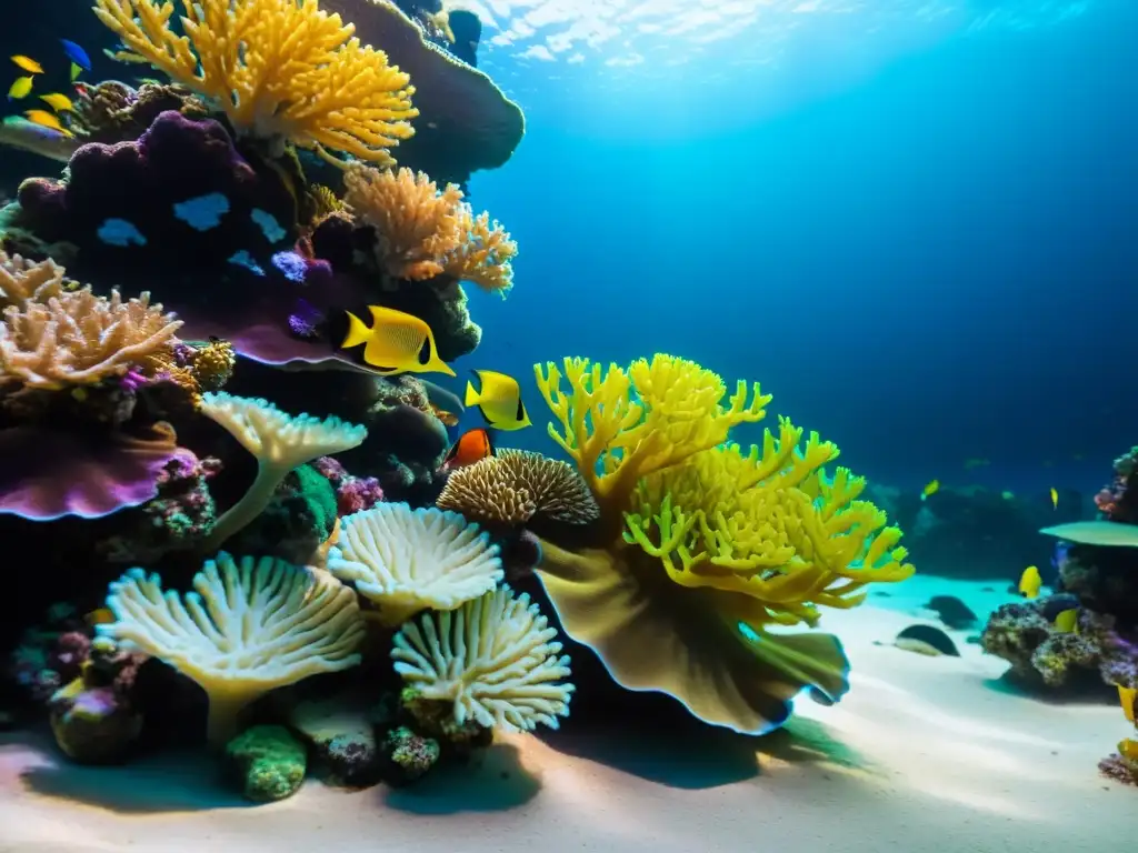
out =
<svg viewBox="0 0 1138 853"><path fill-rule="evenodd" d="M241 132L381 165L414 132L410 77L316 0L96 0L94 14L148 63L214 100Z"/></svg>

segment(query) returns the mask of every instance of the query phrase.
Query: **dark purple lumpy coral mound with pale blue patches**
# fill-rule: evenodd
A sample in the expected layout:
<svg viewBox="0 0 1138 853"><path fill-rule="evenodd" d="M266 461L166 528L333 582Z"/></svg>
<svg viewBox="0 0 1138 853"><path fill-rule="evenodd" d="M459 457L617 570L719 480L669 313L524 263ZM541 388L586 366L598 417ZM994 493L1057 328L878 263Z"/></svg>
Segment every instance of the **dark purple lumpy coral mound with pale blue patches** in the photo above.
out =
<svg viewBox="0 0 1138 853"><path fill-rule="evenodd" d="M296 240L299 213L279 169L254 168L218 122L174 110L137 140L82 146L64 180L30 179L17 201L8 242L67 245L88 275L165 278L171 258L183 275L267 266Z"/></svg>

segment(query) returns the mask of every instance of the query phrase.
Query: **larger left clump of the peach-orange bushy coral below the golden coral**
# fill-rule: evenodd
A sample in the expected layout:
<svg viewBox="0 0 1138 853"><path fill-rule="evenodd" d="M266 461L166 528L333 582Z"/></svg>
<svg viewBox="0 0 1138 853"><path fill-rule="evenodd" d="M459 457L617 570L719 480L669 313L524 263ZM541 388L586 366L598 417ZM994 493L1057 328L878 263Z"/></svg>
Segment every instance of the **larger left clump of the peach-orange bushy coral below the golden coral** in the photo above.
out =
<svg viewBox="0 0 1138 853"><path fill-rule="evenodd" d="M426 174L353 166L344 176L348 208L376 229L380 267L397 279L422 281L443 272L442 259L462 238L462 190L442 192Z"/></svg>

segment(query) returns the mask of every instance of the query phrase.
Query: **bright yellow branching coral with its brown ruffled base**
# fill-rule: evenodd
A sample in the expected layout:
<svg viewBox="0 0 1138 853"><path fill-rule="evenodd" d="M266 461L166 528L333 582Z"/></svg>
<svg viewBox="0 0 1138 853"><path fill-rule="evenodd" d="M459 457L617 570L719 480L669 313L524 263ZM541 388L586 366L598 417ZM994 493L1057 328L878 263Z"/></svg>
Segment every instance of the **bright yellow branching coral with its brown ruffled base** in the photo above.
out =
<svg viewBox="0 0 1138 853"><path fill-rule="evenodd" d="M593 547L542 543L537 572L566 631L622 686L737 731L777 728L802 690L836 701L849 687L841 643L783 627L913 573L900 531L858 499L865 480L828 477L838 448L816 433L800 447L785 419L761 448L724 444L765 416L758 383L725 405L718 375L668 355L563 370L535 367L560 425L550 434L601 510Z"/></svg>

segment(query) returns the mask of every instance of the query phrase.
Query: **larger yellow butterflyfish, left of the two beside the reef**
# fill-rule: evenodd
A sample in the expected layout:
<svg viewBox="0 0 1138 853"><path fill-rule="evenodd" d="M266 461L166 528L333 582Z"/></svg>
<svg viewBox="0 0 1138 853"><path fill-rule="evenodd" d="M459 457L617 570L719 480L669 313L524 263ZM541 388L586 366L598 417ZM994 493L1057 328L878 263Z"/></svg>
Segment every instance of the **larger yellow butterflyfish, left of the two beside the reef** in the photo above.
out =
<svg viewBox="0 0 1138 853"><path fill-rule="evenodd" d="M364 346L363 359L378 372L396 373L445 373L454 371L438 357L435 336L426 322L412 314L379 305L368 306L371 312L371 328L352 312L345 312L348 330L340 345L344 349Z"/></svg>

